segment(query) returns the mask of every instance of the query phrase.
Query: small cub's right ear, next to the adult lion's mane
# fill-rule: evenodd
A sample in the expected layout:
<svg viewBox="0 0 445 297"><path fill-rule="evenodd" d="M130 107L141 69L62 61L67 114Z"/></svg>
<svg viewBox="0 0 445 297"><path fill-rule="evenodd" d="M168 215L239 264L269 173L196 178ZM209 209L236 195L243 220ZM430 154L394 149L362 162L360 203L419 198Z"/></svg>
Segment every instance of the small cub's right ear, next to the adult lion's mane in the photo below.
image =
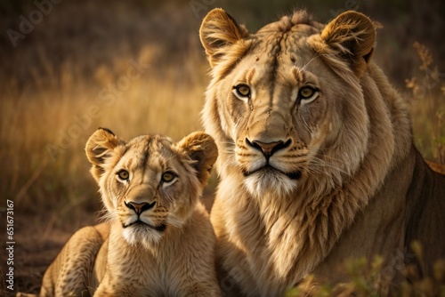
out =
<svg viewBox="0 0 445 297"><path fill-rule="evenodd" d="M179 141L178 146L195 161L192 166L197 171L198 181L205 186L218 157L214 139L204 132L193 132Z"/></svg>

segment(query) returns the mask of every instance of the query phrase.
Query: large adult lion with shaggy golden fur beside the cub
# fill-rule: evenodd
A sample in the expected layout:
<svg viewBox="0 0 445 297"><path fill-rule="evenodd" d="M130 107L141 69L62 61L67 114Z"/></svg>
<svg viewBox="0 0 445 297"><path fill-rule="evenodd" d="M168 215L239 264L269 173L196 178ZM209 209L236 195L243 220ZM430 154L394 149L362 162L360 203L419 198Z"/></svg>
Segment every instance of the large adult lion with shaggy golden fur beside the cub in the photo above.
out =
<svg viewBox="0 0 445 297"><path fill-rule="evenodd" d="M344 12L325 26L300 11L249 34L214 9L200 38L223 291L278 296L308 274L336 283L347 257L414 261L415 239L428 250L418 274L431 276L445 256L445 178L419 156L409 105L371 60L371 20Z"/></svg>

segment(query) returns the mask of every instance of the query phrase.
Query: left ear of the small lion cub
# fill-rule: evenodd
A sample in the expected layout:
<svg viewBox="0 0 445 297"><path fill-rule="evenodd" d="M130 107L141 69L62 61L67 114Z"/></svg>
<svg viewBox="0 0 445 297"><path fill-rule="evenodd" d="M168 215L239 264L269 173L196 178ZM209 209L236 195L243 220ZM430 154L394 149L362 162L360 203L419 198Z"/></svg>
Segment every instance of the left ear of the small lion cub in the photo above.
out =
<svg viewBox="0 0 445 297"><path fill-rule="evenodd" d="M91 173L96 181L105 173L105 160L111 156L117 146L125 148L125 142L106 128L99 128L86 141L85 152L88 161L93 165Z"/></svg>

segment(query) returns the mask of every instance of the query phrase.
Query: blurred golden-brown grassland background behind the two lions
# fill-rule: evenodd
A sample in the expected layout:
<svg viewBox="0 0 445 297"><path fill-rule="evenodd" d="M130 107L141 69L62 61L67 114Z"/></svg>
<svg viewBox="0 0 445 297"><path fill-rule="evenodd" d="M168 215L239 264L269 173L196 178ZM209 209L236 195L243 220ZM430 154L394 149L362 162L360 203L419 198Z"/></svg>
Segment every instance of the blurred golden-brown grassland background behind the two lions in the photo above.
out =
<svg viewBox="0 0 445 297"><path fill-rule="evenodd" d="M41 255L27 250L27 240L63 241L97 219L101 205L84 152L97 127L125 140L155 132L180 140L202 129L209 76L198 28L215 7L251 32L295 8L307 8L321 22L348 9L378 21L383 28L377 30L374 60L412 102L417 147L426 158L445 161L440 0L59 2L40 19L33 1L0 4L0 210L3 216L5 200L14 201L21 240L16 253L28 254L17 265L38 266L31 276L41 277L48 263L36 263ZM20 32L23 18L30 17L32 28L12 42L7 30ZM207 196L216 183L213 177ZM17 277L19 287L36 291L27 283L29 274L19 271Z"/></svg>

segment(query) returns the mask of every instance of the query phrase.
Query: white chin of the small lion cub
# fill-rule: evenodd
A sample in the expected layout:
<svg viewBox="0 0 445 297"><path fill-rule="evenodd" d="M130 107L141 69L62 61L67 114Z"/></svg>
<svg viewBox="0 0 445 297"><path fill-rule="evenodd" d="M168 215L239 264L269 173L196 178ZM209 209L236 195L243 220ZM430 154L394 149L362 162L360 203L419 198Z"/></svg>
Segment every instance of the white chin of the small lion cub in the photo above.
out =
<svg viewBox="0 0 445 297"><path fill-rule="evenodd" d="M165 230L165 224L156 227L130 225L122 231L122 236L129 245L142 244L149 248L151 245L158 244Z"/></svg>

